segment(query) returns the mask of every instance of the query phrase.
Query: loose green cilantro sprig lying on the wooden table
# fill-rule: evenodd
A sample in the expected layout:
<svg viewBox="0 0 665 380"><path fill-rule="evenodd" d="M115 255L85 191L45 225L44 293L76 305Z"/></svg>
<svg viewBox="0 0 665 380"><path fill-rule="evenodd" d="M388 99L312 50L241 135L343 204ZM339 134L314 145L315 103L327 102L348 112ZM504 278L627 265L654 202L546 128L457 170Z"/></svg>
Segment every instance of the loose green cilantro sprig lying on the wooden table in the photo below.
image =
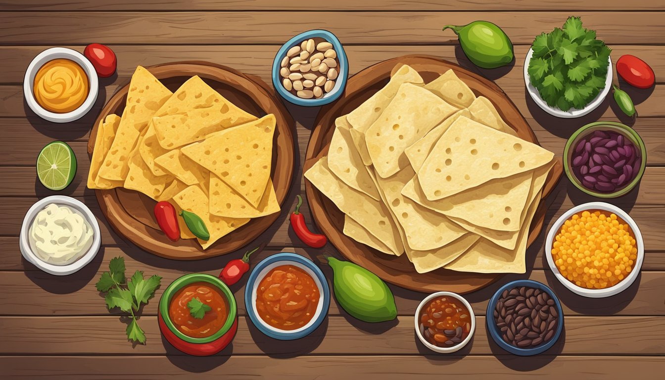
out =
<svg viewBox="0 0 665 380"><path fill-rule="evenodd" d="M112 258L108 264L108 272L102 273L96 284L97 290L104 295L106 307L118 309L125 313L130 313L131 321L127 325L127 339L146 343L146 334L136 322L134 313L140 309L142 303L148 303L155 290L162 283L160 276L152 276L148 279L143 278L143 272L137 270L134 275L127 280L125 278L124 258ZM126 288L123 287L126 285Z"/></svg>

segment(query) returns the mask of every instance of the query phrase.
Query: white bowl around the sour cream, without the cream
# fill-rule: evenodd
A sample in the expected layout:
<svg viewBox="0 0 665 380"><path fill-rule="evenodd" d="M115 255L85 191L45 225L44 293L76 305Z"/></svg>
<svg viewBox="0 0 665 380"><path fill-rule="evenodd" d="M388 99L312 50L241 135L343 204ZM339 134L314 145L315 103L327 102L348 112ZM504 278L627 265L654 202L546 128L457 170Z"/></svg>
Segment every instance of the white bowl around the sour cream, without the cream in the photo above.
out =
<svg viewBox="0 0 665 380"><path fill-rule="evenodd" d="M49 264L47 262L42 261L30 248L29 237L28 237L30 226L33 224L33 220L35 219L35 216L37 216L37 213L43 210L48 204L51 203L64 204L66 206L70 206L71 208L78 210L81 214L83 214L83 216L85 216L86 220L88 221L88 223L90 223L90 226L92 227L92 232L93 232L92 246L90 246L88 252L86 252L75 262L64 266ZM86 206L79 200L76 200L69 196L54 195L54 196L47 196L46 198L38 200L25 214L25 218L23 218L23 225L21 225L21 236L19 236L19 248L21 248L21 254L25 258L25 260L28 260L32 264L35 264L37 268L49 274L53 274L55 276L66 276L68 274L78 272L78 270L80 270L81 268L83 268L92 261L94 256L96 256L97 252L99 252L99 248L101 245L102 245L102 236L100 234L99 224L97 223L96 218L94 217L88 206Z"/></svg>

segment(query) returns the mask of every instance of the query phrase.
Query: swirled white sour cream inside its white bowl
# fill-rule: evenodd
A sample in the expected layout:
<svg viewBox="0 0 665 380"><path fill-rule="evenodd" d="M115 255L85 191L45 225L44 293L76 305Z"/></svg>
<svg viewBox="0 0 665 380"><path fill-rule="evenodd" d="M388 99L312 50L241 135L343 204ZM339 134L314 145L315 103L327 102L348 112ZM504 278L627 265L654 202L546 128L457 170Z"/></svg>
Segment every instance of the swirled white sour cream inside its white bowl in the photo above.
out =
<svg viewBox="0 0 665 380"><path fill-rule="evenodd" d="M78 210L52 203L37 213L28 237L31 250L43 262L66 265L88 252L93 230Z"/></svg>

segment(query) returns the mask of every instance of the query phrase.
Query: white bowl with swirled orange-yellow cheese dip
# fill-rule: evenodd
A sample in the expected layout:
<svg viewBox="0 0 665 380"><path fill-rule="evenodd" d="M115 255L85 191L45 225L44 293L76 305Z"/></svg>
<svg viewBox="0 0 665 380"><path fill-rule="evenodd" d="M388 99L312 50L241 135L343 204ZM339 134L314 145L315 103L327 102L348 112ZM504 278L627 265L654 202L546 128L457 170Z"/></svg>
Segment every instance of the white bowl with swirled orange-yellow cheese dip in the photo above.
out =
<svg viewBox="0 0 665 380"><path fill-rule="evenodd" d="M37 116L52 122L70 122L88 113L98 89L92 63L65 47L39 53L23 79L25 102Z"/></svg>

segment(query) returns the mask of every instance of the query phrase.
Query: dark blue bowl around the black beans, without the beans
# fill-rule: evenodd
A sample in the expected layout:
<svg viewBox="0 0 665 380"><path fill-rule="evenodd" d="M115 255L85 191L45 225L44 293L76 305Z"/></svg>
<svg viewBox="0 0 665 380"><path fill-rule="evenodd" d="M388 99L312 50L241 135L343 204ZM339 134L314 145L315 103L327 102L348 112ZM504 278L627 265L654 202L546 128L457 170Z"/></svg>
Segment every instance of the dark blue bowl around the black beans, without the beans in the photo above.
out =
<svg viewBox="0 0 665 380"><path fill-rule="evenodd" d="M513 289L513 287L518 286L535 287L536 289L541 289L542 291L547 292L549 297L554 299L554 305L557 307L557 313L559 313L559 323L557 323L557 330L554 333L554 337L546 343L539 345L538 347L519 348L506 343L503 338L501 338L501 331L494 321L494 308L499 301L499 297L501 297L501 293L503 293L503 291L506 289L510 290ZM487 331L489 331L489 335L491 335L492 339L494 339L497 345L509 353L520 356L538 355L539 353L547 351L554 345L554 343L557 343L557 340L559 340L559 337L561 336L561 331L563 331L563 309L561 309L561 302L559 302L559 298L557 298L557 295L555 295L554 291L547 287L547 285L532 280L515 280L501 286L499 290L497 290L496 293L492 295L491 299L489 299L489 303L487 303L487 314L485 315L485 320L487 321Z"/></svg>

